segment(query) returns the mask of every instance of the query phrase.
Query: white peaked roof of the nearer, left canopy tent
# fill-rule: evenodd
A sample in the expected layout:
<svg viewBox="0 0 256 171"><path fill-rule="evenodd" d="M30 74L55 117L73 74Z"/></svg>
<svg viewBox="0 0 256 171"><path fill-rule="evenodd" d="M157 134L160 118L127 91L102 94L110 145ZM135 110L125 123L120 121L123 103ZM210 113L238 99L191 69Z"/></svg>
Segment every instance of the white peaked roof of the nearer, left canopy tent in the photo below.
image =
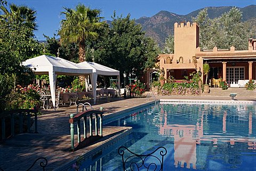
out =
<svg viewBox="0 0 256 171"><path fill-rule="evenodd" d="M35 68L35 75L47 75L55 71L57 75L87 75L92 74L91 68L81 68L77 63L48 55L31 58L22 63L23 66Z"/></svg>

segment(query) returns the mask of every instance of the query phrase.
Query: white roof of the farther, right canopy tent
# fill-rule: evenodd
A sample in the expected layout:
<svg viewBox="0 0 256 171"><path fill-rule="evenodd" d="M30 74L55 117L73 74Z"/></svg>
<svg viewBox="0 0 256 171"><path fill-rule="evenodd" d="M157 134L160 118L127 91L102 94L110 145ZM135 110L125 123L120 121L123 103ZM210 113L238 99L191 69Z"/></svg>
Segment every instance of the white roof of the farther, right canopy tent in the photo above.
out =
<svg viewBox="0 0 256 171"><path fill-rule="evenodd" d="M95 62L81 62L77 64L80 68L90 68L92 69L93 73L96 73L98 75L105 75L105 76L119 76L119 71L106 67L106 66L102 66L99 63L95 63Z"/></svg>

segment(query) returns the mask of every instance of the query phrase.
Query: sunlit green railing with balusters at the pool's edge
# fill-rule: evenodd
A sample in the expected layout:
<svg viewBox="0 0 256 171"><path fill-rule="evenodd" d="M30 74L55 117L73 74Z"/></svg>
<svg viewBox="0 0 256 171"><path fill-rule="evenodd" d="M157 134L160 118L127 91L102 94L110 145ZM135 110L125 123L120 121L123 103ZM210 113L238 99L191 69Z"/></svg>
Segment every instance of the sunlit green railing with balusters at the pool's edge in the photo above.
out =
<svg viewBox="0 0 256 171"><path fill-rule="evenodd" d="M81 113L78 113L76 116L74 114L70 115L69 123L70 123L70 135L71 135L71 150L75 151L83 148L86 145L91 144L94 141L97 141L103 136L102 133L102 115L103 108L101 110L86 110ZM89 118L89 123L87 123L87 119ZM81 119L83 119L83 133L84 137L81 139ZM93 126L93 119L95 125ZM99 120L99 121L98 121ZM74 134L74 124L77 125L77 142L75 144L75 134ZM89 136L87 136L87 128L89 127L90 132ZM93 134L94 127L94 134ZM100 132L100 133L99 133Z"/></svg>

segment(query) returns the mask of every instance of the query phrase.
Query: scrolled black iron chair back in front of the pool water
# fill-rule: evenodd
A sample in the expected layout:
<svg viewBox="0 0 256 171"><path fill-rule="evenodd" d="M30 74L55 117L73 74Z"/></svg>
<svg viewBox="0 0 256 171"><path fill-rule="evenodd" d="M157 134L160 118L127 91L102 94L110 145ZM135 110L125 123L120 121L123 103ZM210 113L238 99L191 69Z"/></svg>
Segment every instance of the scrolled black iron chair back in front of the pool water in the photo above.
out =
<svg viewBox="0 0 256 171"><path fill-rule="evenodd" d="M121 146L118 149L118 154L122 156L124 171L140 170L145 168L147 170L163 171L164 156L166 153L167 150L163 146L158 147L156 150L148 154L136 154L125 146Z"/></svg>

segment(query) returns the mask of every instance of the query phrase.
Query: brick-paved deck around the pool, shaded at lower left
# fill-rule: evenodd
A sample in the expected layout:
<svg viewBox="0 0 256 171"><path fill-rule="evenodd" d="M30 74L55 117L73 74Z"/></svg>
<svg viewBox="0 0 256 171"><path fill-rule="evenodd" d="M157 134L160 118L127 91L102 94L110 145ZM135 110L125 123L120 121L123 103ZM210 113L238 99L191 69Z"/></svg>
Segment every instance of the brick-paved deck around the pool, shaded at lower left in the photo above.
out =
<svg viewBox="0 0 256 171"><path fill-rule="evenodd" d="M156 96L157 99L171 99L171 100L225 100L231 101L230 96ZM251 101L256 102L255 91L251 96L236 96L235 101ZM154 98L133 98L133 99L119 99L108 98L105 100L97 101L97 104L93 105L95 110L99 110L103 107L103 116L111 115L112 113L137 107L147 102L154 102ZM46 170L54 170L59 168L63 164L67 164L71 160L87 153L93 156L97 153L97 149L101 146L101 150L104 144L111 145L111 141L123 139L131 133L130 127L105 127L103 134L104 139L97 142L97 144L87 146L84 149L77 150L75 152L69 152L70 146L70 125L68 122L70 113L76 112L76 107L61 107L54 111L53 109L42 110L44 115L38 117L38 132L39 134L25 134L17 135L7 140L5 143L0 144L0 168L4 170L26 170L33 164L38 157L46 157L48 165ZM22 137L23 136L23 137ZM21 138L22 137L22 138ZM51 137L51 138L50 138ZM57 141L58 140L58 141ZM28 144L29 143L29 144ZM93 151L94 149L94 151ZM98 150L99 152L100 150ZM89 152L89 153L88 153ZM91 152L91 153L90 153ZM37 164L38 166L39 164ZM62 168L62 170L65 170Z"/></svg>

